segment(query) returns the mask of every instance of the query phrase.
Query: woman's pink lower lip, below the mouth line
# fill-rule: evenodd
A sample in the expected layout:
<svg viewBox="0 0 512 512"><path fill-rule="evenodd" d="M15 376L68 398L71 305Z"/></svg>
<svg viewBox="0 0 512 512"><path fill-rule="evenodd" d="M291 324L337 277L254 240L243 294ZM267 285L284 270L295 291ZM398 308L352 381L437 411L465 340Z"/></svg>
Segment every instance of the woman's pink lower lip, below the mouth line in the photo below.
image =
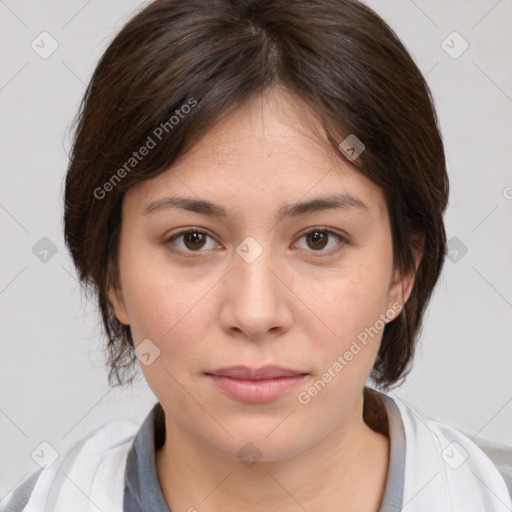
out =
<svg viewBox="0 0 512 512"><path fill-rule="evenodd" d="M245 380L208 375L213 382L228 396L248 403L264 403L275 400L284 395L291 388L301 382L305 375L297 377L279 377L264 380Z"/></svg>

